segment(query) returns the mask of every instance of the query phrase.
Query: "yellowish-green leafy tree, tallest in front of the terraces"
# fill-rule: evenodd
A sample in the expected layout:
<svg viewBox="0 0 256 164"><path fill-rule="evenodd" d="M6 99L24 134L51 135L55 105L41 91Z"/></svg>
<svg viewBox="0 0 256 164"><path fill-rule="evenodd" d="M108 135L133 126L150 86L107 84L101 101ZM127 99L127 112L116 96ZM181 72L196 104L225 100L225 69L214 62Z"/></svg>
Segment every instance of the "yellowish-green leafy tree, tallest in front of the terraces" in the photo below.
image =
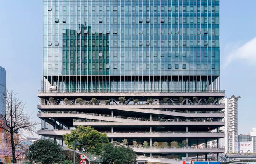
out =
<svg viewBox="0 0 256 164"><path fill-rule="evenodd" d="M63 139L68 148L73 149L73 143L78 140L80 145L76 146L80 151L82 148L85 152L99 155L105 143L109 143L106 134L102 134L92 127L78 126L76 129L71 129L70 133L63 135Z"/></svg>

